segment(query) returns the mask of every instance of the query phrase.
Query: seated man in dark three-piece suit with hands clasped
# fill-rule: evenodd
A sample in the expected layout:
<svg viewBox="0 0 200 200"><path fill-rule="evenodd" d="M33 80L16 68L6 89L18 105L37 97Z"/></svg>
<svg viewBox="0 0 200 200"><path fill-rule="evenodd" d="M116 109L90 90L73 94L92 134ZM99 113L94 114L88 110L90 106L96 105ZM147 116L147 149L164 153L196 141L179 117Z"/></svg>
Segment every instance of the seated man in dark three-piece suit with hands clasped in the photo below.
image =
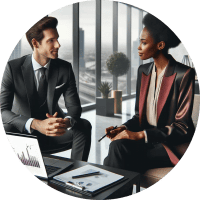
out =
<svg viewBox="0 0 200 200"><path fill-rule="evenodd" d="M42 152L72 148L71 158L87 161L91 124L81 119L72 66L58 58L57 19L43 17L27 32L32 55L6 64L0 110L5 131L33 134ZM58 106L63 94L68 114Z"/></svg>

